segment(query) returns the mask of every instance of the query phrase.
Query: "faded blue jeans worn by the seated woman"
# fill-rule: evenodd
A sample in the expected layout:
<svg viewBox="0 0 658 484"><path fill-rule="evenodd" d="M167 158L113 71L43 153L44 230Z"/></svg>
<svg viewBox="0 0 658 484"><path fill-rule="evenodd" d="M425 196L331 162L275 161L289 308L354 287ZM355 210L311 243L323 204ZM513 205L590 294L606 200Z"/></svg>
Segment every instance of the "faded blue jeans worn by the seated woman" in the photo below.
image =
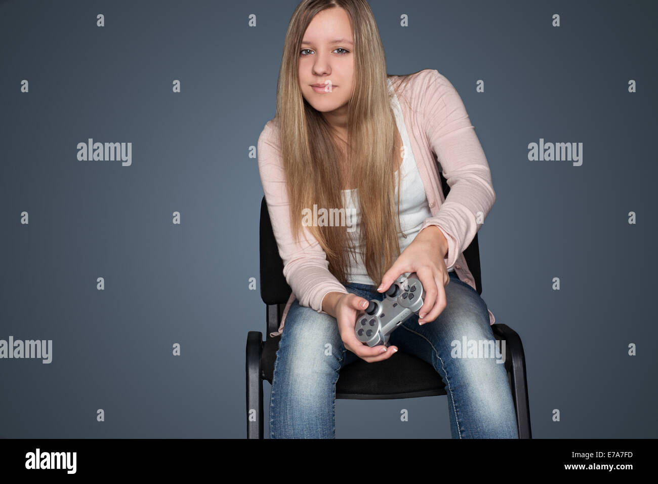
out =
<svg viewBox="0 0 658 484"><path fill-rule="evenodd" d="M495 344L495 338L480 294L454 271L449 275L442 313L422 326L413 315L391 333L390 344L430 363L441 375L453 439L518 439L514 402L501 363L504 347L498 346L498 353L479 354L463 348L463 357L457 358L457 342L472 348L469 340ZM351 283L345 288L367 300L384 298L375 286ZM295 300L274 363L270 439L334 438L336 381L340 369L356 360L359 356L343 345L336 318Z"/></svg>

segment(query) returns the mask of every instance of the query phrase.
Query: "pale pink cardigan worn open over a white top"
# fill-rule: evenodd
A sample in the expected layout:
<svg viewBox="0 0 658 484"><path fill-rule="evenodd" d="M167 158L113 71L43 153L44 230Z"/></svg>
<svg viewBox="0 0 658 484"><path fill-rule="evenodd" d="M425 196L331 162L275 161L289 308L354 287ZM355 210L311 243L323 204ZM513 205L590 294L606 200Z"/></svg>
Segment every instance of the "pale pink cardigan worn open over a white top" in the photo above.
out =
<svg viewBox="0 0 658 484"><path fill-rule="evenodd" d="M395 81L397 77L390 79ZM472 273L462 252L482 227L496 198L484 151L461 97L437 70L424 69L415 74L400 97L407 97L411 105L410 108L405 100L399 99L411 149L432 212L420 230L428 225L436 225L442 230L448 243L445 267L453 268L461 281L475 289ZM272 230L284 263L284 277L292 294L278 331L270 333L270 336L282 333L288 309L295 297L300 306L326 314L322 311L324 296L331 291L348 292L328 270L326 254L308 229L302 227L311 244L303 237L298 243L293 240L286 177L278 142L276 124L271 119L258 138L258 168ZM445 200L433 153L450 187ZM495 317L492 311L489 311L489 319L493 324Z"/></svg>

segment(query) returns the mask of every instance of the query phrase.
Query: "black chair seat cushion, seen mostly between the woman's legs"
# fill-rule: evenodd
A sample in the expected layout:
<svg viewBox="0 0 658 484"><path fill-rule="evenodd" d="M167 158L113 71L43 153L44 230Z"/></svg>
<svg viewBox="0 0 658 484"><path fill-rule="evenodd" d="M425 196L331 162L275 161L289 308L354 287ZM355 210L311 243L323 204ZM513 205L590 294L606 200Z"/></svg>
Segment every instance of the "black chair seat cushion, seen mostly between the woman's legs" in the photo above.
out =
<svg viewBox="0 0 658 484"><path fill-rule="evenodd" d="M261 367L263 378L270 384L281 335L267 338L263 344ZM336 398L413 398L445 395L441 376L429 363L416 356L398 351L388 360L368 363L359 360L340 370L336 383Z"/></svg>

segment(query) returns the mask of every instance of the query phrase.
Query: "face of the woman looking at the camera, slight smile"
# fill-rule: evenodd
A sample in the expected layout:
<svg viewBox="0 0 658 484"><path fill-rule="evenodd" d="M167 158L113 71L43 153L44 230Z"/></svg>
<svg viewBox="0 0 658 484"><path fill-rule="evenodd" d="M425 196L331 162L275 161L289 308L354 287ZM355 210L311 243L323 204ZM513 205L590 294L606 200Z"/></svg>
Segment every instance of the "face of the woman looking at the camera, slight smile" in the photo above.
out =
<svg viewBox="0 0 658 484"><path fill-rule="evenodd" d="M304 33L299 52L299 88L322 113L347 105L352 94L354 45L347 13L340 8L316 14ZM313 88L320 84L320 88Z"/></svg>

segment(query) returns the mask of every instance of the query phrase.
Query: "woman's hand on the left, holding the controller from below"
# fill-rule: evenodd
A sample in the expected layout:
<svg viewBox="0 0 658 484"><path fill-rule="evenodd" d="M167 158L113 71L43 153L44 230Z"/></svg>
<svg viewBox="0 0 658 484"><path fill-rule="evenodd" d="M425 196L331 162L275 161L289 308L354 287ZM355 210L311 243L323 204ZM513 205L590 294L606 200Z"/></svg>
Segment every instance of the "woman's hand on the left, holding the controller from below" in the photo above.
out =
<svg viewBox="0 0 658 484"><path fill-rule="evenodd" d="M336 302L336 321L338 322L338 331L340 338L347 350L359 356L368 363L380 362L390 358L397 351L397 346L384 345L368 346L363 344L354 334L354 328L357 325L357 315L368 307L368 300L357 296L356 294L343 294Z"/></svg>

